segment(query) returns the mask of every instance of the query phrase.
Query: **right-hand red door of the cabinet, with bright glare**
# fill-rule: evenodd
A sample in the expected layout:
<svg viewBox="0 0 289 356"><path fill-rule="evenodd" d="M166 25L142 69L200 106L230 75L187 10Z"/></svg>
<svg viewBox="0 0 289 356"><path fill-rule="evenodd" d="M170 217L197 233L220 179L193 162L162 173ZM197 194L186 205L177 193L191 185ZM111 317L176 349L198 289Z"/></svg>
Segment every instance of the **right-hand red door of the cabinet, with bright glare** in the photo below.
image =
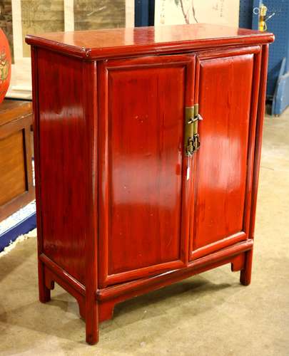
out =
<svg viewBox="0 0 289 356"><path fill-rule="evenodd" d="M248 239L260 47L200 53L190 259Z"/></svg>

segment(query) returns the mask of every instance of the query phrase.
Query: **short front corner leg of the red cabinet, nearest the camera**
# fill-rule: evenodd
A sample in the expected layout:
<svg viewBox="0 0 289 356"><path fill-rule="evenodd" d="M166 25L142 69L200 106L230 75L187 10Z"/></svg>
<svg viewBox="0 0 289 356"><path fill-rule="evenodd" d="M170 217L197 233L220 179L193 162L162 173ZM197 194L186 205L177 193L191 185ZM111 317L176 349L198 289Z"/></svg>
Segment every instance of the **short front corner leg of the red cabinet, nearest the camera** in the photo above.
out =
<svg viewBox="0 0 289 356"><path fill-rule="evenodd" d="M86 342L90 345L98 342L98 303L86 300Z"/></svg>

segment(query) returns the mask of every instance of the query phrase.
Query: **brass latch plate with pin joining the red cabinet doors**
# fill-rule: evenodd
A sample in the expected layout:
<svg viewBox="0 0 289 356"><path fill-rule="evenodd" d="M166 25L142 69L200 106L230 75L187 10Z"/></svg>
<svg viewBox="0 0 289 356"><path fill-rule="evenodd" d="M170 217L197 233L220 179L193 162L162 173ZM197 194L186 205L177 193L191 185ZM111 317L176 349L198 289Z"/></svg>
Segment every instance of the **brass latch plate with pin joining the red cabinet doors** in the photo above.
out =
<svg viewBox="0 0 289 356"><path fill-rule="evenodd" d="M185 152L187 156L193 155L193 152L200 148L198 120L203 120L198 113L198 104L186 108Z"/></svg>

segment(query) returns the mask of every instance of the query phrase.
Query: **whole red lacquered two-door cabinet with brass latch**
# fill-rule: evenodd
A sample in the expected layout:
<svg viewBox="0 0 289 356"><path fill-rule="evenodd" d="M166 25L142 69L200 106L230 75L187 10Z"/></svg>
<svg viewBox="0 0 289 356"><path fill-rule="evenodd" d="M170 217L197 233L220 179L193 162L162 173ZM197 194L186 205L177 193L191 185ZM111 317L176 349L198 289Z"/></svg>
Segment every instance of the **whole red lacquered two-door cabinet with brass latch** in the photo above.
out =
<svg viewBox="0 0 289 356"><path fill-rule="evenodd" d="M26 36L40 300L71 293L87 342L149 290L225 263L250 283L272 41L205 24Z"/></svg>

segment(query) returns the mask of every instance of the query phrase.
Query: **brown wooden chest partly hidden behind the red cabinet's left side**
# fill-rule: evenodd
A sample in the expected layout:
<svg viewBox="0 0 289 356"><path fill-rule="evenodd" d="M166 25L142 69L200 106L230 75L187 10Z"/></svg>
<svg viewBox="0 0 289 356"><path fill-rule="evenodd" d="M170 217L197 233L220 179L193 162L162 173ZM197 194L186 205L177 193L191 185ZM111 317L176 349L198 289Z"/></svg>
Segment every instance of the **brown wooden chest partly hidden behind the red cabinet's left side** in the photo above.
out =
<svg viewBox="0 0 289 356"><path fill-rule="evenodd" d="M31 103L4 100L0 106L0 221L34 199Z"/></svg>

